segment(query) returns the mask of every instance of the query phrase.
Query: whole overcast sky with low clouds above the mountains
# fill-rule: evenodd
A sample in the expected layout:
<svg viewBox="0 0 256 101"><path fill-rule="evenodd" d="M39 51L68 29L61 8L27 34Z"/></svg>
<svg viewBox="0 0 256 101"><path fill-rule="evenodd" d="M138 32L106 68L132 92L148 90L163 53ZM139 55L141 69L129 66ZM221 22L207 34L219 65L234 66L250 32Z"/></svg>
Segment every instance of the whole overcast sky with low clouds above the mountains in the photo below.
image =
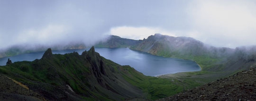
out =
<svg viewBox="0 0 256 101"><path fill-rule="evenodd" d="M217 47L256 45L255 9L256 0L0 0L0 49L155 33Z"/></svg>

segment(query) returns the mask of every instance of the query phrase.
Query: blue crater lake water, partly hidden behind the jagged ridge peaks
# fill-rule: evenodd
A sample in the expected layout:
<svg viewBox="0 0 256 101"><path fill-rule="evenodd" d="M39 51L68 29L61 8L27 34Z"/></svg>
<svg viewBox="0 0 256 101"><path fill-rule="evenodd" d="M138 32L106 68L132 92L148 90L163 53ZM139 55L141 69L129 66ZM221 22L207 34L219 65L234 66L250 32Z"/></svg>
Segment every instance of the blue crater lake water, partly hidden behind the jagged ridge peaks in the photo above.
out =
<svg viewBox="0 0 256 101"><path fill-rule="evenodd" d="M53 54L65 54L73 51L82 54L82 51L90 49L53 50ZM177 72L199 71L201 68L191 60L165 58L151 55L146 52L130 50L128 48L95 48L106 59L110 59L120 65L129 65L146 76L159 76ZM33 61L41 59L45 51L20 54L12 57L0 58L0 65L6 65L7 59L16 61Z"/></svg>

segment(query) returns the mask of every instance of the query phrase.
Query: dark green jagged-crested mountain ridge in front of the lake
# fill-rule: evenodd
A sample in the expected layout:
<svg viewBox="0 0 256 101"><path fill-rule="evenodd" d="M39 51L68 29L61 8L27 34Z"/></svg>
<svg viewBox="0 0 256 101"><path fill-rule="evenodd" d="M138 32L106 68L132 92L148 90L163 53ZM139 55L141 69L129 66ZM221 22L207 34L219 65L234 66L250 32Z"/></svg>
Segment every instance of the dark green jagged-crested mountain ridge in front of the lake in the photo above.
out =
<svg viewBox="0 0 256 101"><path fill-rule="evenodd" d="M155 100L185 89L176 79L144 76L132 67L105 59L94 47L81 55L52 54L48 49L41 59L0 66L0 76L1 82L10 83L0 90L7 100Z"/></svg>

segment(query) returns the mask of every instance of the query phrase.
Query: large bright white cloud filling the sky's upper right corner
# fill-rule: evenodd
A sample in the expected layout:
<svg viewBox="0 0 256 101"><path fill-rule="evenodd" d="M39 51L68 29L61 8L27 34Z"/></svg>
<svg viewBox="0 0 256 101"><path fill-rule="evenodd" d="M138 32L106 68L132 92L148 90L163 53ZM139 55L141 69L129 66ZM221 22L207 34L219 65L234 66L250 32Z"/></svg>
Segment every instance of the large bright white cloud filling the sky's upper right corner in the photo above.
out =
<svg viewBox="0 0 256 101"><path fill-rule="evenodd" d="M256 44L256 5L248 0L200 0L187 9L196 39L235 48Z"/></svg>

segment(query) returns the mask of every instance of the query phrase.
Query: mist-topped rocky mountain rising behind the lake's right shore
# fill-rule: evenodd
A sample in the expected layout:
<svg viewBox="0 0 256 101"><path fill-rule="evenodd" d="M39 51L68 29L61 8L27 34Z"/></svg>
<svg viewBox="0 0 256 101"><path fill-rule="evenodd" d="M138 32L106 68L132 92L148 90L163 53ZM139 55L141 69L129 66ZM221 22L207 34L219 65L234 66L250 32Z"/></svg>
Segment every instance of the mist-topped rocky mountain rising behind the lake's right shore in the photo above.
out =
<svg viewBox="0 0 256 101"><path fill-rule="evenodd" d="M230 48L217 48L206 45L190 37L173 37L162 34L148 36L147 39L132 46L130 49L183 59L193 59L193 57L197 56L227 57L234 51L234 49Z"/></svg>

